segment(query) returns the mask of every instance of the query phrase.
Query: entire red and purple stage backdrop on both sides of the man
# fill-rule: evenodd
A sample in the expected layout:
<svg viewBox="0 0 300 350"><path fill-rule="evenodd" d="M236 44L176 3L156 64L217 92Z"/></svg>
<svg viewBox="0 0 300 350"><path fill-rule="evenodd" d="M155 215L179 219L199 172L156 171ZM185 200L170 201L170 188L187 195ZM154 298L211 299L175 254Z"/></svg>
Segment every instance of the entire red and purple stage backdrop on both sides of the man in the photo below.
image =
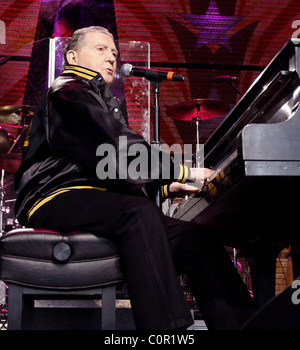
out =
<svg viewBox="0 0 300 350"><path fill-rule="evenodd" d="M245 92L283 44L298 35L300 4L298 0L2 0L0 21L1 56L19 57L1 66L2 106L24 101L31 58L26 43L66 36L81 26L104 25L119 40L149 42L153 69L185 76L184 82L161 85L161 139L169 144L194 143L195 126L167 116L167 108L196 98L234 105L239 94L227 83L211 80L220 75L237 77L239 90ZM34 84L29 83L31 90ZM201 142L222 119L201 123Z"/></svg>

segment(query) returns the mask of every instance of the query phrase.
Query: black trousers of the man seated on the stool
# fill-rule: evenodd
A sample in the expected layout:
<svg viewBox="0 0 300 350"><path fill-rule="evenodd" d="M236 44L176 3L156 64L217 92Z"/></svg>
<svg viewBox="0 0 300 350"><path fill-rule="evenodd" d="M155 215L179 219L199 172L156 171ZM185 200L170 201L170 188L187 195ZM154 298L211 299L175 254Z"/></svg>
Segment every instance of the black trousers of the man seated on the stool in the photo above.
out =
<svg viewBox="0 0 300 350"><path fill-rule="evenodd" d="M187 276L208 329L238 329L255 311L213 233L163 215L143 197L74 189L39 208L30 226L87 231L117 241L137 329L193 323L178 275Z"/></svg>

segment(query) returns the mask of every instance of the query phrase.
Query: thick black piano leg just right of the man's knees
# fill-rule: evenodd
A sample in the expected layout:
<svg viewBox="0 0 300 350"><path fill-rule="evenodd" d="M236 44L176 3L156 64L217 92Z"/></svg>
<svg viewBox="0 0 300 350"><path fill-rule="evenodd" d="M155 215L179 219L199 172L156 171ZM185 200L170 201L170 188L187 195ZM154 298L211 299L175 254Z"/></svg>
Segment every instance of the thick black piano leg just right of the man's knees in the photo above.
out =
<svg viewBox="0 0 300 350"><path fill-rule="evenodd" d="M282 247L260 247L248 257L253 297L261 308L275 295L276 258Z"/></svg>

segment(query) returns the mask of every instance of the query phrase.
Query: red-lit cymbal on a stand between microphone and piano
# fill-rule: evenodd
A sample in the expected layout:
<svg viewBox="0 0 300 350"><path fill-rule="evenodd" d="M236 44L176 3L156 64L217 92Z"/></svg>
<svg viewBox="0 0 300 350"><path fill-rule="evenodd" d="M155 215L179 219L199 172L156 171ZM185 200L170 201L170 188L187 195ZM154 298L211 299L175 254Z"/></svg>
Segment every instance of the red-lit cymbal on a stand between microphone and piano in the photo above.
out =
<svg viewBox="0 0 300 350"><path fill-rule="evenodd" d="M193 118L206 120L220 117L229 109L228 104L219 100L198 98L170 106L166 113L173 119L191 121Z"/></svg>

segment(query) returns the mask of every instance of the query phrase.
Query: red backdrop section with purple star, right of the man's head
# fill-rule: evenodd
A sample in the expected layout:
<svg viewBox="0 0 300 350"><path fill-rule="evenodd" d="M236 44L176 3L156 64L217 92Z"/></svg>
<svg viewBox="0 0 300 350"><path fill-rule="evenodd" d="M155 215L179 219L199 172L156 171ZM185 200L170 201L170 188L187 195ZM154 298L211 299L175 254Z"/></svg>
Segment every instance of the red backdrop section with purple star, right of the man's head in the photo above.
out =
<svg viewBox="0 0 300 350"><path fill-rule="evenodd" d="M213 98L233 105L239 99L216 76L238 77L244 93L282 45L297 35L296 0L115 0L120 40L149 41L151 67L184 74L183 83L161 86L161 136L173 143L194 143L195 126L167 116L167 106ZM294 28L293 28L294 26ZM300 26L300 25L299 25ZM203 121L204 143L222 117Z"/></svg>

